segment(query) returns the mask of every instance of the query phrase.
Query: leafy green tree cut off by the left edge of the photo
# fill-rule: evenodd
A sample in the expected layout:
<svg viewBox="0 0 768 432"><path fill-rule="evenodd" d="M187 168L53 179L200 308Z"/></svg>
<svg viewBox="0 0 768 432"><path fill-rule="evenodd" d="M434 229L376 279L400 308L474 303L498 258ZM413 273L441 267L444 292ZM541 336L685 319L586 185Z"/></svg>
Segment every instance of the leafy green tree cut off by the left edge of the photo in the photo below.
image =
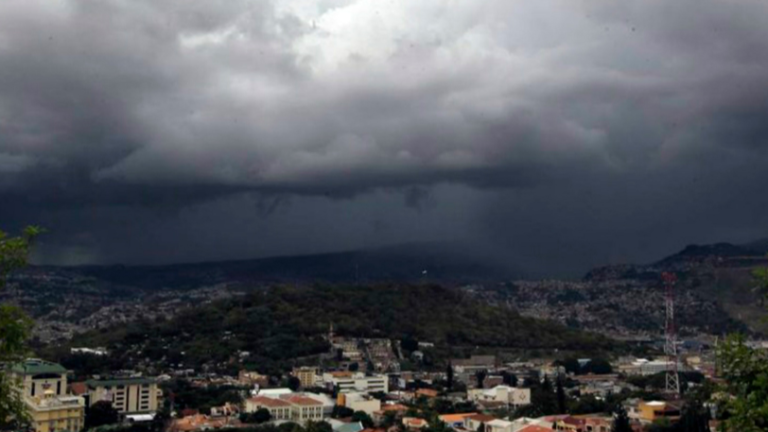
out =
<svg viewBox="0 0 768 432"><path fill-rule="evenodd" d="M10 237L0 231L0 289L5 287L6 277L24 267L33 240L42 232L38 227L27 227L18 237ZM16 306L0 306L0 364L8 365L24 360L26 342L32 321ZM6 368L0 368L0 422L26 423L27 411L21 392L15 391L19 382Z"/></svg>

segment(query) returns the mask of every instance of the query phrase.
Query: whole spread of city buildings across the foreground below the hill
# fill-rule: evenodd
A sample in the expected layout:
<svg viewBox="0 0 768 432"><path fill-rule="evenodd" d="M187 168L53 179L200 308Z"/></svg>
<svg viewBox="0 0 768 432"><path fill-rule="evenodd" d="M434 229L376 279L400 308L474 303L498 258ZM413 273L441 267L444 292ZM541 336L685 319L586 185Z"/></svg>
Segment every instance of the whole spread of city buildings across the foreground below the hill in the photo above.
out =
<svg viewBox="0 0 768 432"><path fill-rule="evenodd" d="M361 345L338 345L345 355L356 356ZM371 347L362 346L365 356L371 357ZM377 352L375 358L390 361L388 354ZM581 359L588 362L589 359ZM383 364L383 363L382 363ZM681 364L680 368L700 370L709 375L706 359ZM571 376L576 387L569 391L579 395L593 395L601 399L622 389L631 388L627 376L653 375L664 371L663 360L621 358L614 362L615 373L579 374ZM14 365L11 372L18 378L19 391L30 413L34 432L79 431L85 425L86 408L99 401L109 402L119 413L120 419L145 422L154 419L163 406L163 393L158 383L170 376L112 376L95 377L82 382L68 382L67 371L62 366L39 359L28 359ZM176 371L179 376L194 371ZM422 418L418 403L432 403L445 399L462 404L468 412L446 414L439 420L457 432L607 432L612 418L606 414L560 415L540 418L512 418L518 408L531 404L531 389L526 379L537 377L554 379L566 374L564 366L551 359L501 364L496 356L472 356L451 360L452 379L462 383L461 390L438 391L435 385L445 383L447 373L434 371L397 371L375 373L361 371L327 371L315 366L293 369L291 375L299 386L274 387L274 381L253 371L240 371L236 377L209 375L189 378L193 386L235 385L244 390L241 404L225 404L213 407L205 414L195 410L172 413L170 430L197 432L211 429L250 426L243 415L268 413L272 423L298 423L325 421L334 432L360 432L361 422L334 415L340 407L345 412L365 413L376 432L386 432L394 424L399 430L418 431L430 427L435 419ZM510 378L513 377L513 378ZM439 388L439 386L437 386ZM418 402L418 403L417 403ZM459 406L459 405L456 405ZM675 421L681 407L669 401L628 400L625 402L628 416L637 430L660 419ZM370 426L370 425L368 425ZM374 432L374 431L367 431Z"/></svg>

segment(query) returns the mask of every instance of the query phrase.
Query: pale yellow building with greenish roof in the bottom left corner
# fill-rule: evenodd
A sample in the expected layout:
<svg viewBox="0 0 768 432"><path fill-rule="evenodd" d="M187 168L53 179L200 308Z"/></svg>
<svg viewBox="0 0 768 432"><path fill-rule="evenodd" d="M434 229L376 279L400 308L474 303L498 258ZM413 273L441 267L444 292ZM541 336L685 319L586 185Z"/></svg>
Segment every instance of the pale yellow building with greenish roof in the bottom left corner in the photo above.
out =
<svg viewBox="0 0 768 432"><path fill-rule="evenodd" d="M19 391L35 432L76 432L85 424L85 400L67 395L67 370L56 363L28 359L14 365Z"/></svg>

